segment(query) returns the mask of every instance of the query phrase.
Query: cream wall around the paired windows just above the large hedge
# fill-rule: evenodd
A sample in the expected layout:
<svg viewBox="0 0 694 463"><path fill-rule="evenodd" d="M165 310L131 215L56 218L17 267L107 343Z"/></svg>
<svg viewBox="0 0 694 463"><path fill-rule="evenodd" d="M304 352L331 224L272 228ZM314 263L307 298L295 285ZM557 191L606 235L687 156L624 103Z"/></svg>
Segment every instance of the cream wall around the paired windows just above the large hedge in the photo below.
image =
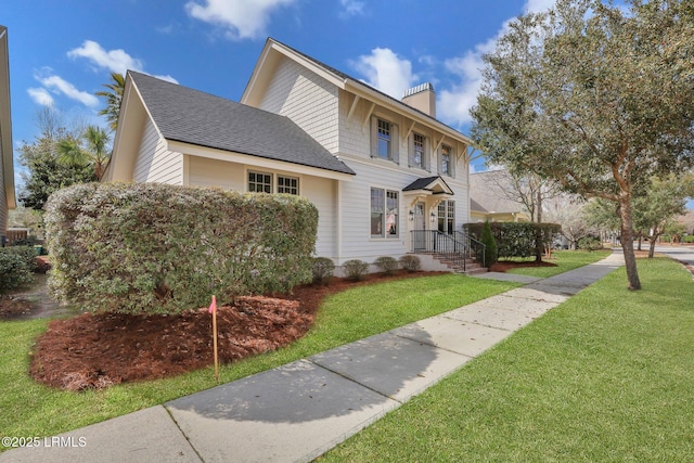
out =
<svg viewBox="0 0 694 463"><path fill-rule="evenodd" d="M223 190L247 191L246 172L248 170L299 178L299 194L318 208L318 237L316 256L334 257L336 253L336 214L335 180L322 179L307 175L296 175L286 170L274 170L265 167L246 166L206 157L190 156L189 182L192 187L217 187ZM277 188L277 183L274 183Z"/></svg>

